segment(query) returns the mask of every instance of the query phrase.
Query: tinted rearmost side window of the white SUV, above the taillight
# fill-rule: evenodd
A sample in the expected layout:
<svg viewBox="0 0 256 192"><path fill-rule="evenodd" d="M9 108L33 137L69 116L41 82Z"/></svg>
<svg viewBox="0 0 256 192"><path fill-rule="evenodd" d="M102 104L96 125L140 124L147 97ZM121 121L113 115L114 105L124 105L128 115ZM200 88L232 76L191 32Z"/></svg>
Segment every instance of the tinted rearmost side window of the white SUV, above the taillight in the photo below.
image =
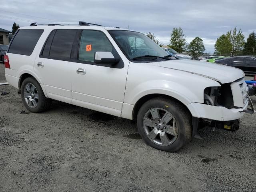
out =
<svg viewBox="0 0 256 192"><path fill-rule="evenodd" d="M12 40L8 53L31 55L43 32L43 29L18 30Z"/></svg>

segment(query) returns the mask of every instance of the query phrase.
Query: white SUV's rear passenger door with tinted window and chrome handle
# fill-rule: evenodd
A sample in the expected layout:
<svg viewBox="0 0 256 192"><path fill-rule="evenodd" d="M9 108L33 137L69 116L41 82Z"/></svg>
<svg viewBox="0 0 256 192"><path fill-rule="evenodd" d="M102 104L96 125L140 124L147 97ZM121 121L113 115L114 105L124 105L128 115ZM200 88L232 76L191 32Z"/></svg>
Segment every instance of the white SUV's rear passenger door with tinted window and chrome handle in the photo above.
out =
<svg viewBox="0 0 256 192"><path fill-rule="evenodd" d="M34 62L34 71L41 78L49 98L72 103L71 53L76 29L53 30L40 55Z"/></svg>

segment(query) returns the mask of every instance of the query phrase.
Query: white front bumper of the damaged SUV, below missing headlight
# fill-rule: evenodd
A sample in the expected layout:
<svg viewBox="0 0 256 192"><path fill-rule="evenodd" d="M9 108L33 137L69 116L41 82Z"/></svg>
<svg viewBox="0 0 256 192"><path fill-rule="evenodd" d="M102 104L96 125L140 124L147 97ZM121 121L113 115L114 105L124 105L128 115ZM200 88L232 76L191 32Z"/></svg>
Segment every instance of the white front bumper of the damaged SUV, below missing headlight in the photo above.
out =
<svg viewBox="0 0 256 192"><path fill-rule="evenodd" d="M251 106L251 109L248 109L248 105ZM211 106L202 103L190 103L187 105L187 107L193 117L206 118L217 121L236 120L242 118L245 112L250 114L255 112L252 100L249 96L243 108L228 109L222 106Z"/></svg>

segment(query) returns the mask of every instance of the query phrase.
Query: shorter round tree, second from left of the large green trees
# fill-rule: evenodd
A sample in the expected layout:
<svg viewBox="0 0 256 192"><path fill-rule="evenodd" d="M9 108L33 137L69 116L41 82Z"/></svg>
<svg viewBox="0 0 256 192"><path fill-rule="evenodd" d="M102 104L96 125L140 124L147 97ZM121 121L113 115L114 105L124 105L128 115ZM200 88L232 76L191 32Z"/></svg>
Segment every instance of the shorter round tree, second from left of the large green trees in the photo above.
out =
<svg viewBox="0 0 256 192"><path fill-rule="evenodd" d="M194 38L190 44L188 45L187 52L190 56L194 59L201 56L205 51L204 42L201 38L196 37Z"/></svg>

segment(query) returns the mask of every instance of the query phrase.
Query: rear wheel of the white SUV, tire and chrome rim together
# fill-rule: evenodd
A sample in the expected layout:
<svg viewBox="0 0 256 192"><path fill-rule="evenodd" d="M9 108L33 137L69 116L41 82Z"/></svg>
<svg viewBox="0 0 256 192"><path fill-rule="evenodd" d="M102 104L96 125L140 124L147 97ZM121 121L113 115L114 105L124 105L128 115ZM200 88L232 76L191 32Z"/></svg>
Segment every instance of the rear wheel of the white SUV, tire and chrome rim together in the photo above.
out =
<svg viewBox="0 0 256 192"><path fill-rule="evenodd" d="M22 82L21 98L24 106L33 113L48 110L52 102L50 98L46 98L42 87L33 77L28 77Z"/></svg>

